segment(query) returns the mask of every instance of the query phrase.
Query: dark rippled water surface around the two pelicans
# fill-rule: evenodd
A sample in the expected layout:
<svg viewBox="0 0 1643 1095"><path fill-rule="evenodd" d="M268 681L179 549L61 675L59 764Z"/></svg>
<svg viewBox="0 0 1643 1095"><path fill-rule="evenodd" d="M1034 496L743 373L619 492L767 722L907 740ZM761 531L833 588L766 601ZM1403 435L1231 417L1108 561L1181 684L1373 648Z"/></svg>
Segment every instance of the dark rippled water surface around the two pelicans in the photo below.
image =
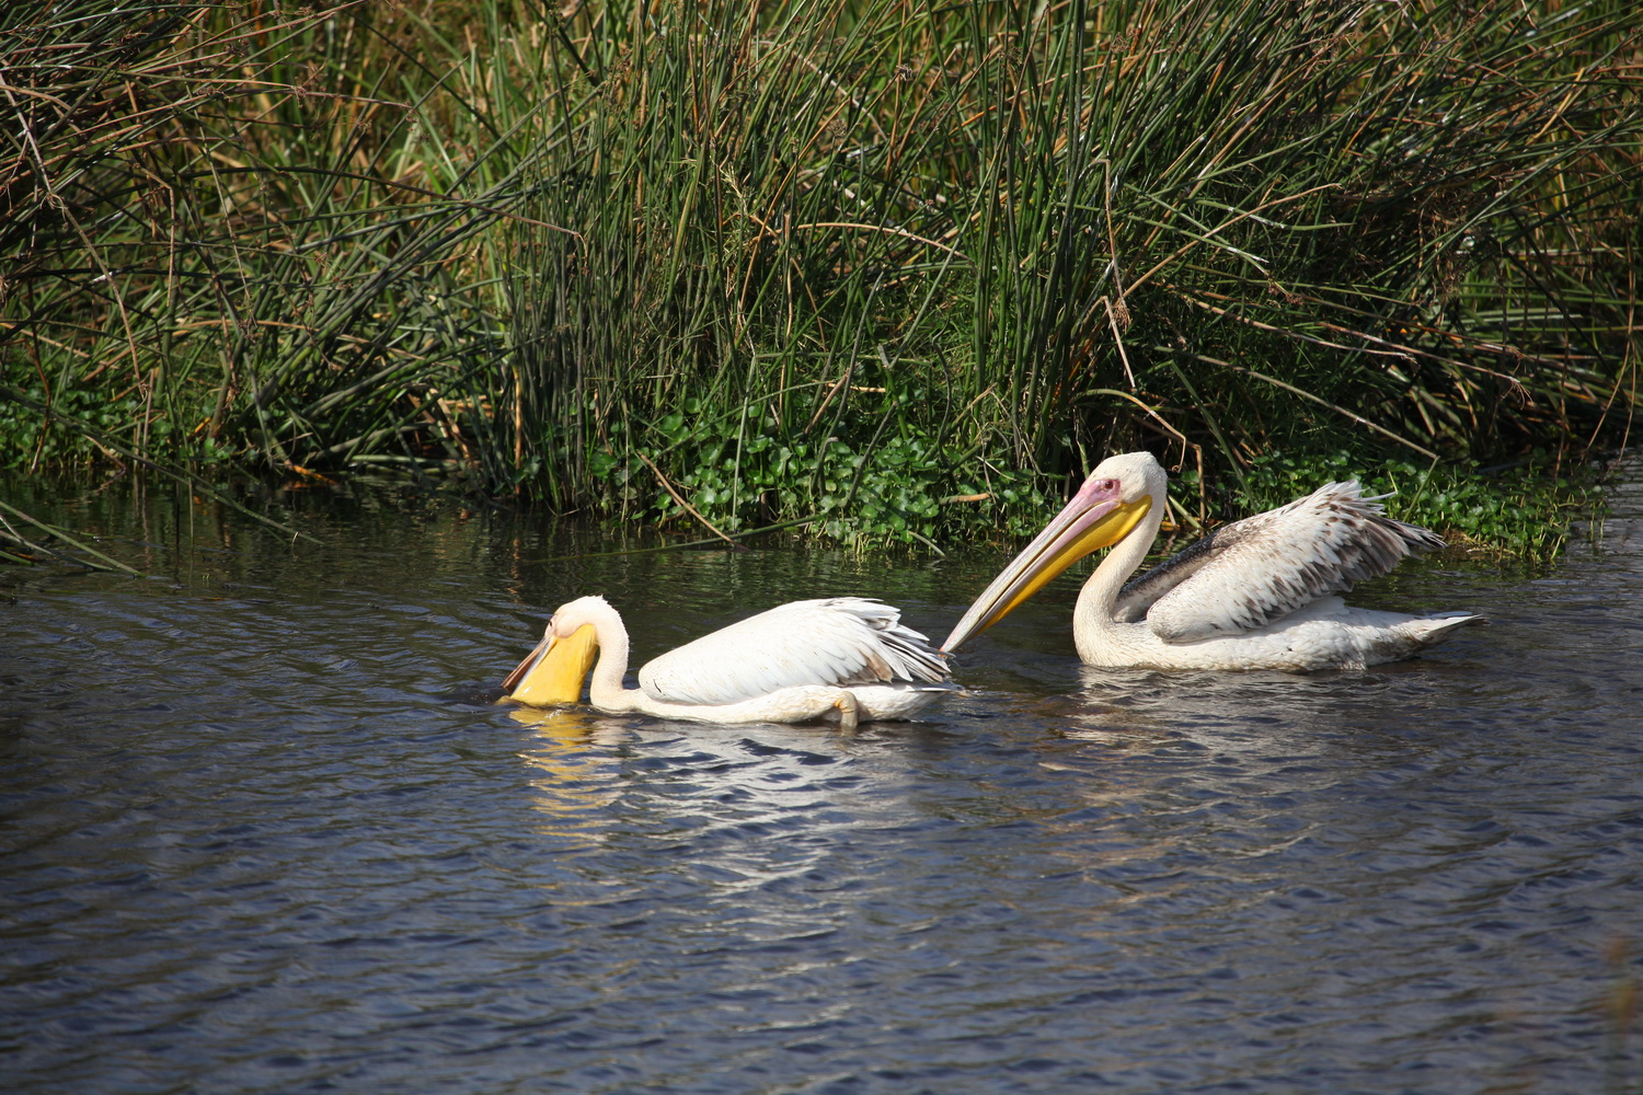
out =
<svg viewBox="0 0 1643 1095"><path fill-rule="evenodd" d="M161 578L0 571L7 1090L1643 1088L1643 493L1365 586L1490 617L1421 660L1084 670L1061 580L854 737L490 699L582 593L641 658L831 593L940 637L1004 552L20 501Z"/></svg>

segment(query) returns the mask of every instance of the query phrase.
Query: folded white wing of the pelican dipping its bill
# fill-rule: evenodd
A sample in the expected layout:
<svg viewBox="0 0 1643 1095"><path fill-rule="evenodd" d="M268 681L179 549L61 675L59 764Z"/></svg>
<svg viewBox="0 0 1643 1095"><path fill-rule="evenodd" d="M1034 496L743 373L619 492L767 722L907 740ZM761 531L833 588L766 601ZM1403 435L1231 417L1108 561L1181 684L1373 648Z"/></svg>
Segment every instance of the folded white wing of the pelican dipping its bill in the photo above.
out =
<svg viewBox="0 0 1643 1095"><path fill-rule="evenodd" d="M639 670L672 703L736 703L797 685L941 683L943 655L866 598L792 601L687 642Z"/></svg>

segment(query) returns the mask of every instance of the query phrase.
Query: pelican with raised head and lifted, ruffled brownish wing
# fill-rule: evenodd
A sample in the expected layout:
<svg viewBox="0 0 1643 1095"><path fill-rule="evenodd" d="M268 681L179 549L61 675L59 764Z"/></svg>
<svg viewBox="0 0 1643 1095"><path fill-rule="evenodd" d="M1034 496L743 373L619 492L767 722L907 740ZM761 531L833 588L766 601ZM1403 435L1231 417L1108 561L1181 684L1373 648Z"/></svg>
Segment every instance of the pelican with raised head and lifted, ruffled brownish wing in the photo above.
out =
<svg viewBox="0 0 1643 1095"><path fill-rule="evenodd" d="M1112 547L1084 581L1073 642L1086 665L1181 670L1364 668L1403 658L1480 616L1406 616L1334 596L1405 555L1443 547L1392 520L1357 483L1216 529L1135 581L1163 522L1167 478L1152 453L1102 460L1066 509L976 598L941 644L956 650L1045 583ZM1121 588L1122 586L1122 588Z"/></svg>

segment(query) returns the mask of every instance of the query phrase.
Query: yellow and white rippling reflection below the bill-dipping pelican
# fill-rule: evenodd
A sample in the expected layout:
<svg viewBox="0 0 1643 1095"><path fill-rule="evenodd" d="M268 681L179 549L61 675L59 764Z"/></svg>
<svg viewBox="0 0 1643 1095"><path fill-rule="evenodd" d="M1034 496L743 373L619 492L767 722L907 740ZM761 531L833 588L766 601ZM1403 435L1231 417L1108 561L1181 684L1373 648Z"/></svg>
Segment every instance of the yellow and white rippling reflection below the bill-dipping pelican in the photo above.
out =
<svg viewBox="0 0 1643 1095"><path fill-rule="evenodd" d="M780 878L808 891L817 878L859 870L868 836L910 831L930 818L920 788L941 752L930 742L951 737L932 724L841 735L825 724L718 727L587 706L504 709L531 731L518 735L514 752L532 829L550 837L541 847L618 855L529 857L522 882L537 880L560 908L613 901L656 908L659 893L679 891L679 878L715 900ZM792 832L803 839L779 839ZM619 870L610 868L613 862ZM754 931L775 939L789 929L810 934L813 914L849 921L851 895L871 898L874 890L845 890L851 893L830 896L826 908L792 918L790 890L751 896Z"/></svg>

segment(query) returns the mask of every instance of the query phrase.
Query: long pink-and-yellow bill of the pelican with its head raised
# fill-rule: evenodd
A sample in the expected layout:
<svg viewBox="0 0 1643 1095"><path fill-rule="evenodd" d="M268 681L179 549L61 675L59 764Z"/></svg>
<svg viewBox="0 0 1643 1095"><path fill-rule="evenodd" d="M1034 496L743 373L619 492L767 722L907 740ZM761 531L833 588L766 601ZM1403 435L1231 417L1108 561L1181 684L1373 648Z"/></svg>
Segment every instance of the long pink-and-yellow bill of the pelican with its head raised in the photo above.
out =
<svg viewBox="0 0 1643 1095"><path fill-rule="evenodd" d="M1127 537L1148 509L1150 496L1125 502L1117 479L1088 479L1066 509L976 598L941 648L956 650L966 639L1014 612L1078 560Z"/></svg>

